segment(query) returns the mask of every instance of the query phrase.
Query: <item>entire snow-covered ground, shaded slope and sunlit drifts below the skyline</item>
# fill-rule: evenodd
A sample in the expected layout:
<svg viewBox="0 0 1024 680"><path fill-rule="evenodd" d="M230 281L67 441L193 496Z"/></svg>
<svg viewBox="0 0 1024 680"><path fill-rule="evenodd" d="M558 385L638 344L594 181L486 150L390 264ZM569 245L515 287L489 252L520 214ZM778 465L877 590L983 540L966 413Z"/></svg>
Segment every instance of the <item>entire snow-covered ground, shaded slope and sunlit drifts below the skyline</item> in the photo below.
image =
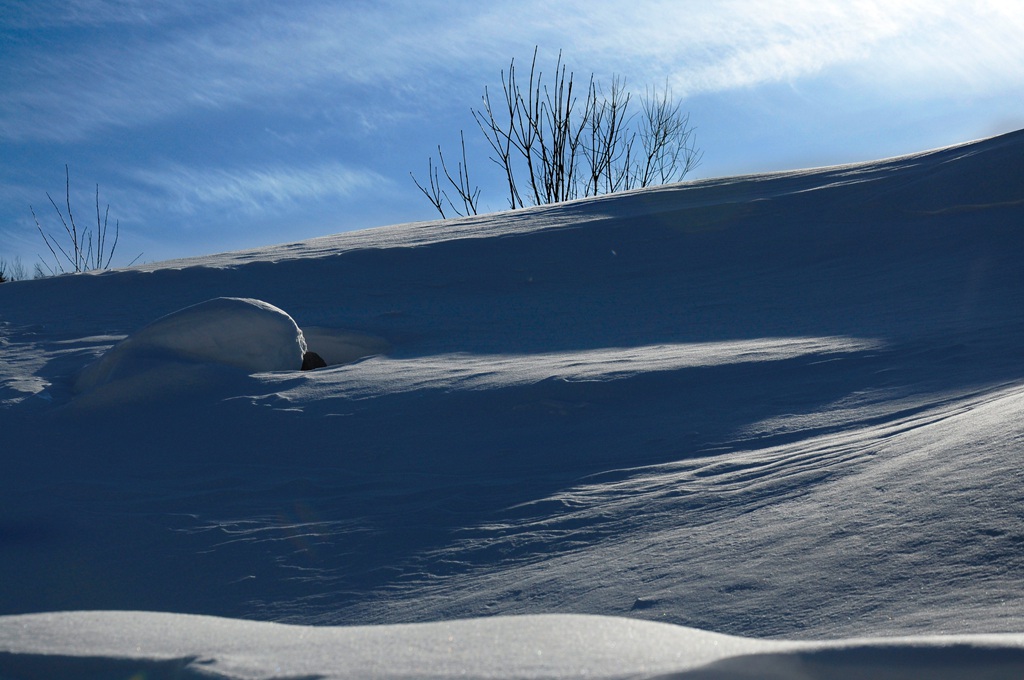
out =
<svg viewBox="0 0 1024 680"><path fill-rule="evenodd" d="M0 678L1020 677L1022 260L1017 132L4 284Z"/></svg>

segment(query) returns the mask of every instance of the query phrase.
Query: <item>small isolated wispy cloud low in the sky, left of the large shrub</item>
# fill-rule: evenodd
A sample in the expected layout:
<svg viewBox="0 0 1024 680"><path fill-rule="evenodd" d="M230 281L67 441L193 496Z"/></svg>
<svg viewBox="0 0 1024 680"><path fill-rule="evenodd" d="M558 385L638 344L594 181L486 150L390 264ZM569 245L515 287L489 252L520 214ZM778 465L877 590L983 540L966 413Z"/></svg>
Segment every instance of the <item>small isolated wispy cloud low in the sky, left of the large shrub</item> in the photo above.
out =
<svg viewBox="0 0 1024 680"><path fill-rule="evenodd" d="M147 202L160 204L152 210L185 216L222 212L266 216L300 204L344 199L388 184L375 172L340 163L252 170L170 166L139 170L134 178L156 189L145 194Z"/></svg>

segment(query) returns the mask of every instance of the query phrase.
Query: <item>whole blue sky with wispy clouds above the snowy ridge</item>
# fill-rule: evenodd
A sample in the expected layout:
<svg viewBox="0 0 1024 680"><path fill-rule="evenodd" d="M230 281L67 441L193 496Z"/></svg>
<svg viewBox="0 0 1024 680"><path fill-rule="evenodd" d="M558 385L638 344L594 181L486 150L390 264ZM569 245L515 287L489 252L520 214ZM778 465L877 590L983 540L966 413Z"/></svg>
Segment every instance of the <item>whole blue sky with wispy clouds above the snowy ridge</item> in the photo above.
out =
<svg viewBox="0 0 1024 680"><path fill-rule="evenodd" d="M410 179L509 59L669 83L690 178L867 161L1024 127L1024 3L0 0L0 258L46 193L121 225L115 263L434 219Z"/></svg>

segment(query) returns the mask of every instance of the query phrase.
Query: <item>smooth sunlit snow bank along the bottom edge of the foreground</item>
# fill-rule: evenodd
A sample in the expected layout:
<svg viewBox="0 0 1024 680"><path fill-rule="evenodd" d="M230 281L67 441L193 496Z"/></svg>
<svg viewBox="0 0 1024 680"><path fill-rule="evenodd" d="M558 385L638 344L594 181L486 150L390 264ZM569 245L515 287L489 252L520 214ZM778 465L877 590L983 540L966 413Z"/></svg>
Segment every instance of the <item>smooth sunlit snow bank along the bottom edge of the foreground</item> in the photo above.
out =
<svg viewBox="0 0 1024 680"><path fill-rule="evenodd" d="M768 641L594 615L288 626L143 611L0 617L4 677L1009 678L1024 635ZM134 674L134 675L133 675Z"/></svg>

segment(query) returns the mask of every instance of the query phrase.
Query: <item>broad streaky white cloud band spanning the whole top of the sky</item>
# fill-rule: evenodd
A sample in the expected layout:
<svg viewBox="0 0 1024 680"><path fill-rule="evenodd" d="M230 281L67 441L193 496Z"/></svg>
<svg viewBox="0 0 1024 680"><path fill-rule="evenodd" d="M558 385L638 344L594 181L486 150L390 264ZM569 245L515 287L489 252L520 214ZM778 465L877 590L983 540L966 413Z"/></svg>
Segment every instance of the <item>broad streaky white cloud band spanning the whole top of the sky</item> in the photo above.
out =
<svg viewBox="0 0 1024 680"><path fill-rule="evenodd" d="M41 15L17 6L0 26ZM1024 83L1016 0L566 0L557 11L546 0L78 0L53 3L52 13L65 24L145 28L41 44L18 33L0 57L13 74L0 97L7 139L74 139L195 109L301 107L310 93L343 100L359 87L422 110L456 85L494 83L497 69L528 58L535 44L564 48L572 66L599 75L668 80L679 96L829 70L919 93Z"/></svg>

